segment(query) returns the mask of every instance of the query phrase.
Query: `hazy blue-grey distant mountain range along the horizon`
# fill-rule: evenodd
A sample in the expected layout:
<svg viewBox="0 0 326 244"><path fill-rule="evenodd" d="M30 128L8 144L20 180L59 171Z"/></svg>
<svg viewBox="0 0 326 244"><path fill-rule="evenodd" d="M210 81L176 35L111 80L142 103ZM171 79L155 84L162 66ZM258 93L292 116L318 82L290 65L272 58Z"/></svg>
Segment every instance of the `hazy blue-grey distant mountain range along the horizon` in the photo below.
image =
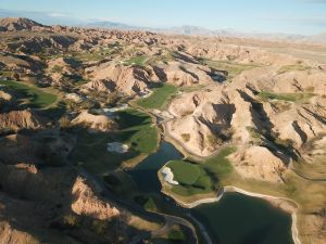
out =
<svg viewBox="0 0 326 244"><path fill-rule="evenodd" d="M304 35L290 35L290 34L264 34L264 33L244 33L237 31L231 28L226 29L208 29L199 26L184 25L178 27L166 28L153 28L143 26L134 26L118 22L109 21L90 21L85 22L77 18L70 17L68 15L62 15L59 13L43 13L43 12L28 12L28 11L11 11L1 10L0 17L27 17L37 21L45 25L67 25L79 27L92 27L92 28L108 28L108 29L123 29L123 30L149 30L154 33L175 34L175 35L193 35L193 36L223 36L223 37L243 37L243 38L258 38L264 40L287 40L287 41L311 41L326 43L326 33L304 36Z"/></svg>

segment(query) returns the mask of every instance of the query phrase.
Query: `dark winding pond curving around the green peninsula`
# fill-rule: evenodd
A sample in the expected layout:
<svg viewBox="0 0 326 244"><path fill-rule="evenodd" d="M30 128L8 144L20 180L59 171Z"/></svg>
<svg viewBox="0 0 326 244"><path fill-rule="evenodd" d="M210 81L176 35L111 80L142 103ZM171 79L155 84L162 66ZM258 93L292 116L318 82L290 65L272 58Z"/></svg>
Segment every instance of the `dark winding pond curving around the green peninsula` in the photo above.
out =
<svg viewBox="0 0 326 244"><path fill-rule="evenodd" d="M171 208L168 214L174 213L188 220L188 214L195 217L206 229L214 244L293 244L291 216L264 200L226 193L217 203L186 209L164 196L158 170L168 160L181 158L174 145L163 141L158 152L128 174L141 192L160 194L160 201Z"/></svg>

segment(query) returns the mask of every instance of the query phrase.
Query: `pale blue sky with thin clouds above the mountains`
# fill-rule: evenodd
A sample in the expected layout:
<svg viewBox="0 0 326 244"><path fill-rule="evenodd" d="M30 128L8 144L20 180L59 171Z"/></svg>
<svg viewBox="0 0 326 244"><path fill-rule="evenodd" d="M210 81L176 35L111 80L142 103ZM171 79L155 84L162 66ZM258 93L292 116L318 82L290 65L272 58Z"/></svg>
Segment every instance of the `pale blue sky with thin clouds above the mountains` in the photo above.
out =
<svg viewBox="0 0 326 244"><path fill-rule="evenodd" d="M146 27L326 33L326 0L0 0L1 12L43 24L111 21Z"/></svg>

